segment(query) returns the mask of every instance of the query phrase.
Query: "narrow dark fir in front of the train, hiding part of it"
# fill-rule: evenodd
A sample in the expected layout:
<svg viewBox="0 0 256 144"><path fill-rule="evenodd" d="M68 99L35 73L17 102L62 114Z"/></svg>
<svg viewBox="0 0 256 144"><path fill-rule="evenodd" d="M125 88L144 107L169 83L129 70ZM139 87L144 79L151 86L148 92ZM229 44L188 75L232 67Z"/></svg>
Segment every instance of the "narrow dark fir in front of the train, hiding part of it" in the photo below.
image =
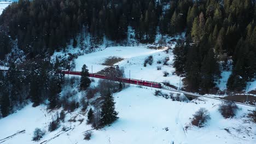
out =
<svg viewBox="0 0 256 144"><path fill-rule="evenodd" d="M84 64L81 71L81 78L80 78L80 89L84 90L88 88L91 84L91 80L89 79L89 70L87 66Z"/></svg>

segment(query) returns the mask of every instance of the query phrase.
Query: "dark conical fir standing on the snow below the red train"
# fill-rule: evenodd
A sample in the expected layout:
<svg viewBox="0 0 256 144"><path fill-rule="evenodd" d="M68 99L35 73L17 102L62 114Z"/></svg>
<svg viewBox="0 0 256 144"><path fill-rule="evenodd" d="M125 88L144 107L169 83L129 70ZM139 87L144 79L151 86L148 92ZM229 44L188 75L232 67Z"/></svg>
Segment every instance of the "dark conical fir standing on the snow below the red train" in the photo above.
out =
<svg viewBox="0 0 256 144"><path fill-rule="evenodd" d="M114 98L110 92L105 96L104 103L101 107L101 126L111 124L118 119L118 112L115 111Z"/></svg>

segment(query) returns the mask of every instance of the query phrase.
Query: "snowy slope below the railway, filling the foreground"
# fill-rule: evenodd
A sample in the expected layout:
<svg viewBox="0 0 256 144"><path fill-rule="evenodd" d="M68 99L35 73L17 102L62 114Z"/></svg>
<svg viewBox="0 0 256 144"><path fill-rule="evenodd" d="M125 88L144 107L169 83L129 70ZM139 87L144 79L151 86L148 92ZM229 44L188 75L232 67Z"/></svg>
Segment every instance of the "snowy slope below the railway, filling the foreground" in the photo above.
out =
<svg viewBox="0 0 256 144"><path fill-rule="evenodd" d="M167 91L163 91L168 93ZM61 127L52 133L46 132L38 143L255 143L256 125L244 117L250 107L239 106L233 119L224 119L218 112L219 101L197 99L186 102L172 101L153 95L154 89L130 86L114 94L119 119L112 126L92 130L90 141L83 140L83 132L91 129L86 125L86 116L80 110L68 113L64 123L68 131ZM203 128L185 128L190 118L200 107L210 111L211 120ZM1 139L10 137L3 143L36 143L31 141L33 130L47 130L55 111L48 112L45 105L36 108L27 105L24 109L0 119ZM69 119L77 122L69 122ZM82 123L79 119L83 119Z"/></svg>

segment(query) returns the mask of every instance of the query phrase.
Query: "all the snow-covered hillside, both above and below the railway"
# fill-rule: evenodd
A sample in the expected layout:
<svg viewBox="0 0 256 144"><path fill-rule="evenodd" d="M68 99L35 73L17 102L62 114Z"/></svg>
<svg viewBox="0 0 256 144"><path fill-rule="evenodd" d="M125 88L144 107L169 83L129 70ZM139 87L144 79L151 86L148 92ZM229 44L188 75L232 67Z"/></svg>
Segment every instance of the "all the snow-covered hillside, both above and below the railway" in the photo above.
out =
<svg viewBox="0 0 256 144"><path fill-rule="evenodd" d="M148 47L107 47L102 51L78 56L75 59L77 64L75 70L80 71L82 65L86 64L89 71L92 65L92 71L96 73L108 67L103 65L106 59L115 56L122 58L114 65L123 67L126 77L129 77L131 71L131 78L157 82L170 81L172 85L179 87L179 76L173 74L174 69L171 65L173 58L171 50L167 53L167 48L156 50ZM55 56L58 55L63 53L56 52ZM153 64L144 67L144 59L150 55L153 56ZM170 59L167 65L163 64L165 58ZM157 66L160 66L161 70L157 70ZM164 71L169 75L163 76ZM97 79L91 85L96 86ZM156 97L154 92L154 88L131 85L115 93L119 119L110 127L100 130L91 130L91 126L86 125L88 110L83 112L79 108L74 112L66 113L65 122L61 122L61 127L49 132L48 125L52 117L56 115L56 111L60 113L61 109L49 111L46 105L32 107L32 104L29 104L24 109L0 119L0 127L3 129L0 131L0 143L36 143L32 141L35 128L46 131L38 143L255 143L256 124L248 121L247 118L248 110L253 108L239 106L240 110L235 118L224 119L218 111L222 103L218 100L197 98L189 102L179 102ZM162 90L162 92L170 94L170 91ZM82 95L82 92L78 92L73 97L79 99ZM193 114L200 107L210 111L211 116L211 120L203 128L193 127L190 124ZM63 131L62 127L66 129ZM90 141L83 140L86 130L92 131Z"/></svg>

